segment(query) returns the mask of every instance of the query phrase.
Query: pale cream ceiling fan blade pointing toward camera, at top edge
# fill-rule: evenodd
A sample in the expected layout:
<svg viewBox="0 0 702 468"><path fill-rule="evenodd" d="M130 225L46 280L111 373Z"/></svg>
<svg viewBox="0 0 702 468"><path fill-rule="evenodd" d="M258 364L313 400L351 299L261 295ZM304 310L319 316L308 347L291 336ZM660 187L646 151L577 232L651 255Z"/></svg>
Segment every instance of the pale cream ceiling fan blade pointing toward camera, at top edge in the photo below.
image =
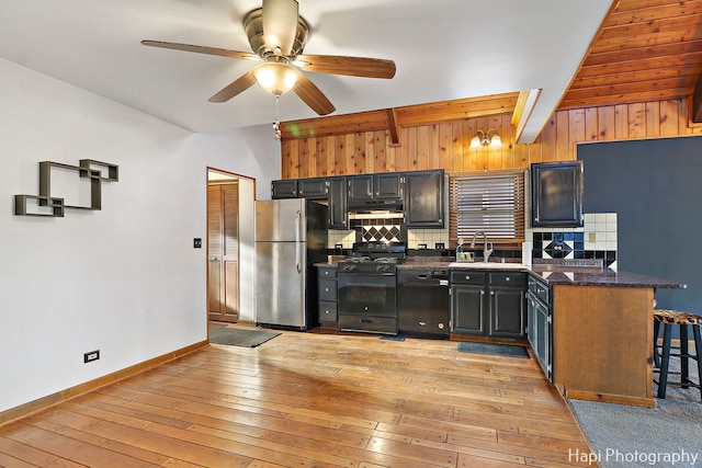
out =
<svg viewBox="0 0 702 468"><path fill-rule="evenodd" d="M297 34L298 4L296 0L263 0L263 36L265 48L280 48L282 55L291 55Z"/></svg>

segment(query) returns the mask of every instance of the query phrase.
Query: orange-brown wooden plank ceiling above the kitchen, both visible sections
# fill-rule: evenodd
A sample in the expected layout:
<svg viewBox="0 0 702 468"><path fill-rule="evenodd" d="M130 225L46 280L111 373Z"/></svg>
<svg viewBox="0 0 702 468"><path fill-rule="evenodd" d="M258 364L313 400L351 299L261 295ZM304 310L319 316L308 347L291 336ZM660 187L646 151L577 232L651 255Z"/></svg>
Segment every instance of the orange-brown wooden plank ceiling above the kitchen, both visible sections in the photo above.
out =
<svg viewBox="0 0 702 468"><path fill-rule="evenodd" d="M621 0L604 19L558 110L695 95L702 122L702 0ZM698 98L698 95L700 98ZM281 124L282 138L308 138L511 114L519 92L335 115Z"/></svg>

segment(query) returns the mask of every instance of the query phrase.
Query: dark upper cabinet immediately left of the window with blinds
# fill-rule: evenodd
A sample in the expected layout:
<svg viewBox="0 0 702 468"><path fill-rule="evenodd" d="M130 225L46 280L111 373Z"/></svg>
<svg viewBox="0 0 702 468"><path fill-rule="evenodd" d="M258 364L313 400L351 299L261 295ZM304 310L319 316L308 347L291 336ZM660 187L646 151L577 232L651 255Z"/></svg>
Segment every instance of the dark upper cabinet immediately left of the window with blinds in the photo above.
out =
<svg viewBox="0 0 702 468"><path fill-rule="evenodd" d="M405 172L405 226L408 228L443 228L444 172Z"/></svg>

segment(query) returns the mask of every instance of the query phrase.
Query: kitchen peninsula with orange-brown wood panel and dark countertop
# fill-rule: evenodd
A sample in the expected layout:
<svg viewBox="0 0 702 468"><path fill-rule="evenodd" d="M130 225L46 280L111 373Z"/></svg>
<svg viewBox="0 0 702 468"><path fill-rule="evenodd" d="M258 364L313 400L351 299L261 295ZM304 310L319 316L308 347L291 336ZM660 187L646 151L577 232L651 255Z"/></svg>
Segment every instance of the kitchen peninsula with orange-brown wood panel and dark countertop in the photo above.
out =
<svg viewBox="0 0 702 468"><path fill-rule="evenodd" d="M421 265L450 272L525 272L531 292L525 298L526 335L545 375L562 395L655 407L654 294L657 288L684 288L684 284L600 267L554 264L528 267L510 263L491 263L488 267L448 260L408 255L397 269ZM326 265L333 266L333 263ZM532 299L536 294L543 306ZM455 320L453 313L455 311L452 320ZM464 338L453 332L450 335L453 340Z"/></svg>

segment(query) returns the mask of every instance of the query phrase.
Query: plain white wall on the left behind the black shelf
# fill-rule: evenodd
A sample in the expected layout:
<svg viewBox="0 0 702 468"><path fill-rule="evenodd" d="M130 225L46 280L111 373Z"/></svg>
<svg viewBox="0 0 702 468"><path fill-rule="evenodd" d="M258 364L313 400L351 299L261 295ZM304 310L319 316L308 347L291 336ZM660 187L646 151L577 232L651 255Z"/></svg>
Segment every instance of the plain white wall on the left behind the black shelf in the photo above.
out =
<svg viewBox="0 0 702 468"><path fill-rule="evenodd" d="M4 60L0 103L0 411L205 340L206 168L270 197L270 126L191 134ZM102 210L14 216L39 161L79 159L120 167Z"/></svg>

